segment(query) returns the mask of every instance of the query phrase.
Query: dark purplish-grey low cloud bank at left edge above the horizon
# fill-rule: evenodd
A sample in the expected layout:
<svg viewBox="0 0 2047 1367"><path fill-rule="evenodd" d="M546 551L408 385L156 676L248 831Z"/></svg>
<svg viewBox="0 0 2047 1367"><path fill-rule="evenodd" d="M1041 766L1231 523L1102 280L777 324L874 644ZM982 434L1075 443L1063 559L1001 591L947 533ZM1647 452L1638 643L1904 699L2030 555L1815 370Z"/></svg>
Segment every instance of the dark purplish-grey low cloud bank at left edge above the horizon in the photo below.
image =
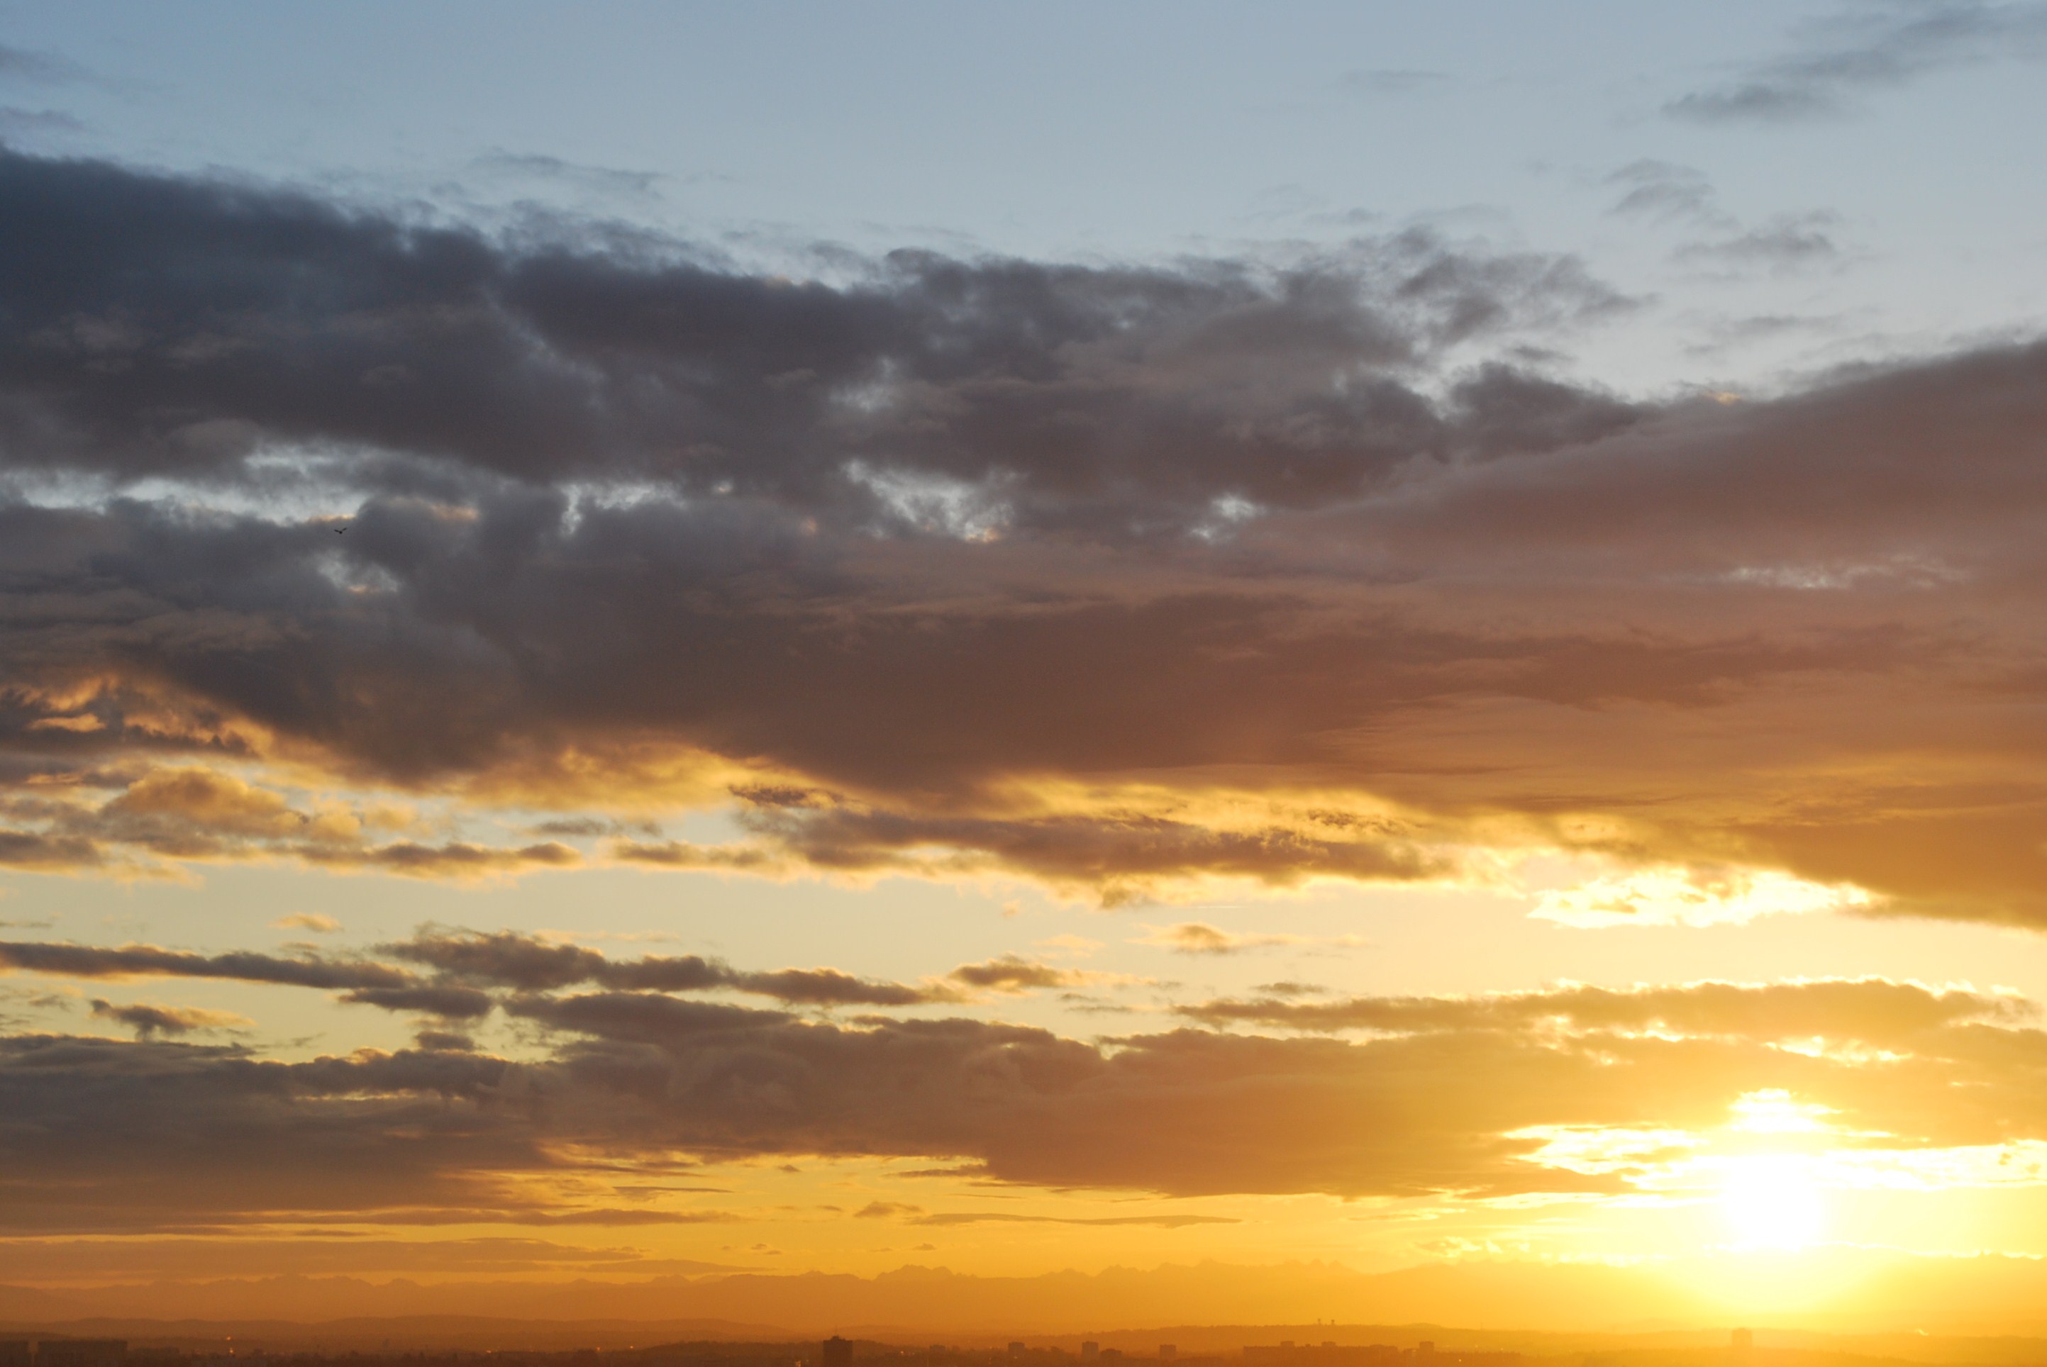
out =
<svg viewBox="0 0 2047 1367"><path fill-rule="evenodd" d="M223 1046L0 1040L8 1224L156 1228L258 1211L495 1205L547 1171L530 1128L479 1109L508 1064L360 1054L276 1064Z"/></svg>

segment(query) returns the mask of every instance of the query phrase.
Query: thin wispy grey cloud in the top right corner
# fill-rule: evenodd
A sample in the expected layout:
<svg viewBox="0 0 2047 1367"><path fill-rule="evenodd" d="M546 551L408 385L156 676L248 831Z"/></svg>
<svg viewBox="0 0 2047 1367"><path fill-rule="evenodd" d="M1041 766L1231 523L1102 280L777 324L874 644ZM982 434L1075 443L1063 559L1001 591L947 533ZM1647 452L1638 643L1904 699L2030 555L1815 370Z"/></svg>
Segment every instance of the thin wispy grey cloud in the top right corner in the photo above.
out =
<svg viewBox="0 0 2047 1367"><path fill-rule="evenodd" d="M2047 6L1889 2L1808 27L1791 55L1664 106L1699 123L1793 123L1846 111L1857 96L1992 59L2047 55Z"/></svg>

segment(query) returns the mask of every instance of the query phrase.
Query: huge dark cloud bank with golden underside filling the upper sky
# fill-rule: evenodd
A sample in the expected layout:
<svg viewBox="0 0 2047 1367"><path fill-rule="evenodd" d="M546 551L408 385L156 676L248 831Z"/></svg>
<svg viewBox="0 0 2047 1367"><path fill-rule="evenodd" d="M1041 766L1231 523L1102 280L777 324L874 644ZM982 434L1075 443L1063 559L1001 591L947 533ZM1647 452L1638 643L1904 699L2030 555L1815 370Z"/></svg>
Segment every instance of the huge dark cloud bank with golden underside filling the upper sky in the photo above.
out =
<svg viewBox="0 0 2047 1367"><path fill-rule="evenodd" d="M1414 233L782 278L18 153L0 211L8 868L1126 907L1562 853L2047 923L2039 344L1648 401L1517 360L1623 307L1582 266ZM692 810L735 837L647 831ZM780 972L725 986L938 1001Z"/></svg>

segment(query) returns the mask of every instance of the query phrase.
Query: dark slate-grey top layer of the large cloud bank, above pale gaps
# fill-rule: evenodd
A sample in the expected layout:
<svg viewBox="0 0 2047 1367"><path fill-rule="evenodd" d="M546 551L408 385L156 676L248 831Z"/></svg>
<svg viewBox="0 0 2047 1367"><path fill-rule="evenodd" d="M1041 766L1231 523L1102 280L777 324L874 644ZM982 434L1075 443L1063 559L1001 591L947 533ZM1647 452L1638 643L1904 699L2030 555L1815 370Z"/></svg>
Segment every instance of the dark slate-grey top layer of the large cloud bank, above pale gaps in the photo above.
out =
<svg viewBox="0 0 2047 1367"><path fill-rule="evenodd" d="M90 162L8 156L0 205L0 450L111 477L297 442L884 522L929 493L901 481L950 481L1132 534L1451 458L1431 358L1619 305L1421 233L1283 270L903 252L829 286Z"/></svg>

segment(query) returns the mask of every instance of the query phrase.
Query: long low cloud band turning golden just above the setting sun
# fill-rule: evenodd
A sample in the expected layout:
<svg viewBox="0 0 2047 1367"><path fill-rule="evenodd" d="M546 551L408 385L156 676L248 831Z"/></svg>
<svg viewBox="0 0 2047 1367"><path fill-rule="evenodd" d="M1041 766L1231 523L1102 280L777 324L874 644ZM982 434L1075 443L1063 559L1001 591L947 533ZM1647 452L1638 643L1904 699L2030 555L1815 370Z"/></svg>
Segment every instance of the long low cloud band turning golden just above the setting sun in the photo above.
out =
<svg viewBox="0 0 2047 1367"><path fill-rule="evenodd" d="M960 1154L1009 1181L1179 1195L1617 1191L1625 1173L1533 1164L1537 1144L1515 1136L1713 1128L1734 1097L1769 1087L1906 1148L2047 1123L2016 1091L2047 1062L2039 1015L1998 995L1844 980L1351 1007L1382 1009L1376 1038L1171 1031L1109 1048L981 1021L854 1029L635 995L520 1009L581 1038L559 1054L571 1076L661 1097L657 1113L612 1123L690 1148ZM1816 1035L1834 1042L1826 1056L1777 1048ZM1928 1113L1957 1078L1981 1091Z"/></svg>

